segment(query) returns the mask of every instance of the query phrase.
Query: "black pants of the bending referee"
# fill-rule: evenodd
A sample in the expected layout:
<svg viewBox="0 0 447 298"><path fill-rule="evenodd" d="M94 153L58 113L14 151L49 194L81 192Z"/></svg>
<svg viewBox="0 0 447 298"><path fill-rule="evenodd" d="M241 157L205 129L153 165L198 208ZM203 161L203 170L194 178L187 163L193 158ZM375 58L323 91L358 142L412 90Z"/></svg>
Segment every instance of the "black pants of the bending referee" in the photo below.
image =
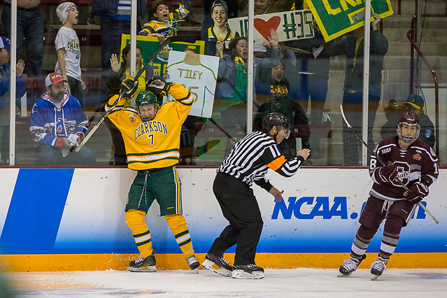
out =
<svg viewBox="0 0 447 298"><path fill-rule="evenodd" d="M221 256L237 244L234 264L255 264L256 247L264 222L253 190L239 179L218 173L213 192L229 225L215 239L208 253Z"/></svg>

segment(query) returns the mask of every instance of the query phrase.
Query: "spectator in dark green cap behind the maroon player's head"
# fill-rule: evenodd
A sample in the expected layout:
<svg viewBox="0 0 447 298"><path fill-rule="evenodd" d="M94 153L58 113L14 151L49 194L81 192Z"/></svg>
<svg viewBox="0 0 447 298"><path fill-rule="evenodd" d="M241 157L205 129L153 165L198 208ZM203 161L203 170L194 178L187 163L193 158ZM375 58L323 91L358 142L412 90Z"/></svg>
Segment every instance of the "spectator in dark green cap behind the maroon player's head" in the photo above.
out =
<svg viewBox="0 0 447 298"><path fill-rule="evenodd" d="M432 120L424 113L424 99L418 94L410 94L404 103L405 111L418 114L420 123L420 141L434 148L436 136L434 136L434 125Z"/></svg>

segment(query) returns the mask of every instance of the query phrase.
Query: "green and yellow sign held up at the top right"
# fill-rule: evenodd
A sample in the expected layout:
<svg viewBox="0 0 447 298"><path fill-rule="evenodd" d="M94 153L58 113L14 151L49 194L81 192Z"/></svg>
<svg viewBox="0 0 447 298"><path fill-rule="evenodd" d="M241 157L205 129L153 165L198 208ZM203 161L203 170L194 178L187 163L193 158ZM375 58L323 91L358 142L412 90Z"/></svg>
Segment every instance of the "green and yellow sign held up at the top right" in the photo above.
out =
<svg viewBox="0 0 447 298"><path fill-rule="evenodd" d="M364 0L306 0L325 41L364 25ZM371 13L393 14L390 0L371 0ZM370 20L374 20L370 17Z"/></svg>

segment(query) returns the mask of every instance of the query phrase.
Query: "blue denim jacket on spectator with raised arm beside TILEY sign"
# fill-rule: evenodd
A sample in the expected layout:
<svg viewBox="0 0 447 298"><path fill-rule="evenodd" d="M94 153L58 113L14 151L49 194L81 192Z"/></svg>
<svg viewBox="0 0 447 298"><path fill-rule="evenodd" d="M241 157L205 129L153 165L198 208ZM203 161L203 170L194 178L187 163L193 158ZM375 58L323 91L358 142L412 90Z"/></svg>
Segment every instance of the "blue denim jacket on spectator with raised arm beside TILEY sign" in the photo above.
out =
<svg viewBox="0 0 447 298"><path fill-rule="evenodd" d="M259 68L274 68L281 62L281 50L272 50L271 57L257 58L254 57L253 73L256 73L257 67ZM222 81L218 85L216 92L216 98L232 98L234 90L236 90L236 62L234 57L225 54L219 62L218 77L222 78ZM255 94L255 84L253 84L253 94Z"/></svg>

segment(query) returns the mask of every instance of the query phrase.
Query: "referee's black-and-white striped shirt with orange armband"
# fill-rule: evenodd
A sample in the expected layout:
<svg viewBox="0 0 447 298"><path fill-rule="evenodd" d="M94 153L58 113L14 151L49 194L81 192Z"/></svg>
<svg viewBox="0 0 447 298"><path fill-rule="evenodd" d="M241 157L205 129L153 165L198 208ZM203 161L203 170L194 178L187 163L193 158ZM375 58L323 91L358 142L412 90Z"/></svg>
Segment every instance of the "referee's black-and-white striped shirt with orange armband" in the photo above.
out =
<svg viewBox="0 0 447 298"><path fill-rule="evenodd" d="M287 161L271 136L264 132L251 132L234 145L217 172L227 173L250 186L255 182L269 191L271 184L265 178L268 168L291 177L303 162L301 156Z"/></svg>

